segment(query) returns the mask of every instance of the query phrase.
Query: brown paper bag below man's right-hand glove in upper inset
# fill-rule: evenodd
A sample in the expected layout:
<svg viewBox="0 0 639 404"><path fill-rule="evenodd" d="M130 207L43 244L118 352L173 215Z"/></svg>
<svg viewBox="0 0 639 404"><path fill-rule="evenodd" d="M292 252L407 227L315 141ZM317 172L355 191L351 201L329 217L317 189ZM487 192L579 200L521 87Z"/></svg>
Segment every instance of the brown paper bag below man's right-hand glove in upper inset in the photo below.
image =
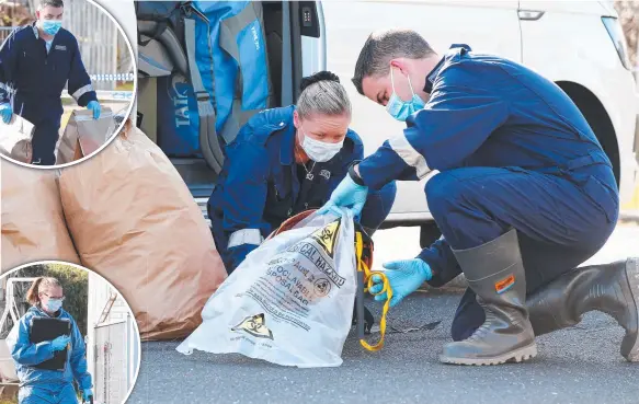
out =
<svg viewBox="0 0 639 404"><path fill-rule="evenodd" d="M60 138L56 164L70 163L93 153L109 140L114 130L115 120L109 107L102 107L98 119L93 119L92 111L73 111Z"/></svg>

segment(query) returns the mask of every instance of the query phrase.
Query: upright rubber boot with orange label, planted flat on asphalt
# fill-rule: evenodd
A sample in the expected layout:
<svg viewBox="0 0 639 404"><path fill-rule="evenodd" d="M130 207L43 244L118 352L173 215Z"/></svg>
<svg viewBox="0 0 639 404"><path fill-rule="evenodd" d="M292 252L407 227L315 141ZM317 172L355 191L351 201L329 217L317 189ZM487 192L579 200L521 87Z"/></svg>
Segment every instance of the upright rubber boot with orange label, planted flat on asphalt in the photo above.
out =
<svg viewBox="0 0 639 404"><path fill-rule="evenodd" d="M526 275L516 230L454 253L486 312L486 321L467 339L447 344L440 360L456 365L499 365L535 357L537 346L525 307Z"/></svg>

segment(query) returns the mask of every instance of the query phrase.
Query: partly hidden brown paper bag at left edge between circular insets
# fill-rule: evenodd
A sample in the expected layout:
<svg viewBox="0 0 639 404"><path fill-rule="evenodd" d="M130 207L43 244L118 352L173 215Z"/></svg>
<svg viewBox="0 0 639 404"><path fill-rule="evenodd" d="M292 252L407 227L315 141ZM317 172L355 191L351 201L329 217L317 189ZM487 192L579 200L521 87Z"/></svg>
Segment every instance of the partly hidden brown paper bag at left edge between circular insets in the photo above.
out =
<svg viewBox="0 0 639 404"><path fill-rule="evenodd" d="M65 223L56 173L4 160L0 171L0 273L41 259L79 264Z"/></svg>

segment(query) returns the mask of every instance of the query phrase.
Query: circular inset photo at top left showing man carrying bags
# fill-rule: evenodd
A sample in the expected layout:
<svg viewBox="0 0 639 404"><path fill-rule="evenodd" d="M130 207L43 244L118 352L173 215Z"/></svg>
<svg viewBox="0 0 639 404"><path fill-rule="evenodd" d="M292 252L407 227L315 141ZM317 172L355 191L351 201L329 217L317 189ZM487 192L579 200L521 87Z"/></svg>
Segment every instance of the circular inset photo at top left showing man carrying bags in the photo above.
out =
<svg viewBox="0 0 639 404"><path fill-rule="evenodd" d="M137 67L92 0L0 1L0 155L38 169L100 152L134 107Z"/></svg>

